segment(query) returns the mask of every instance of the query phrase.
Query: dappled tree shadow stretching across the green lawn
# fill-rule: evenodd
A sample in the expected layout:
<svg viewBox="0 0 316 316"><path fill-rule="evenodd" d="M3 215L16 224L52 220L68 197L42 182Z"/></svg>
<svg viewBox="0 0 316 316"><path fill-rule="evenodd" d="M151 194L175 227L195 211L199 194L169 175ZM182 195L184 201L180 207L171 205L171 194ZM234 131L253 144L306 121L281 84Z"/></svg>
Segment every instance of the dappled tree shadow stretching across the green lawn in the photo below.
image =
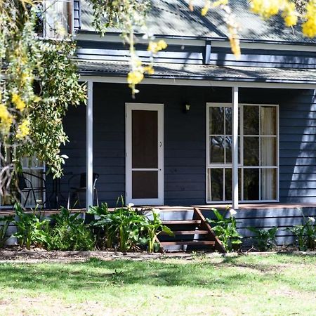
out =
<svg viewBox="0 0 316 316"><path fill-rule="evenodd" d="M269 268L270 267L270 268ZM246 269L241 269L246 268ZM251 270L250 270L251 269ZM0 288L30 290L98 290L128 284L238 289L261 286L266 282L292 284L273 269L273 265L239 262L225 258L222 263L190 261L102 261L91 258L84 263L4 263L0 265Z"/></svg>

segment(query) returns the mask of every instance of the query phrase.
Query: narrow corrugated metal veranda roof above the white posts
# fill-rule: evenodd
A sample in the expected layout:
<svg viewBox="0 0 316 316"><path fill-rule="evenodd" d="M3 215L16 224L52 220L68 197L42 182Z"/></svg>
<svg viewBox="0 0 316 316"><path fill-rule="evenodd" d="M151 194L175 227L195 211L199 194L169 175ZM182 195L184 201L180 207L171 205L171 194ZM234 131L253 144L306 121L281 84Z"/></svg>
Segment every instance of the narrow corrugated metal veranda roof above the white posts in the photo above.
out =
<svg viewBox="0 0 316 316"><path fill-rule="evenodd" d="M81 74L91 76L123 77L129 72L129 62L77 60L77 65ZM316 84L316 70L157 63L150 78Z"/></svg>

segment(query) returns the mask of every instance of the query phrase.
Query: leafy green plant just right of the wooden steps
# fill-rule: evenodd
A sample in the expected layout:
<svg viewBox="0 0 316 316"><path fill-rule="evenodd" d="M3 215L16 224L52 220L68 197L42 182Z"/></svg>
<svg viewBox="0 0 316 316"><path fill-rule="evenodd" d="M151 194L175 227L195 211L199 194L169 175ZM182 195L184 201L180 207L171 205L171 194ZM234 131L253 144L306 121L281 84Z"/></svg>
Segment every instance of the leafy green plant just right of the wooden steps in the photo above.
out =
<svg viewBox="0 0 316 316"><path fill-rule="evenodd" d="M213 225L212 229L222 242L227 251L236 250L242 244L242 235L237 232L237 221L235 210L230 210L230 216L226 218L217 209L211 209L216 219L206 218L206 221Z"/></svg>

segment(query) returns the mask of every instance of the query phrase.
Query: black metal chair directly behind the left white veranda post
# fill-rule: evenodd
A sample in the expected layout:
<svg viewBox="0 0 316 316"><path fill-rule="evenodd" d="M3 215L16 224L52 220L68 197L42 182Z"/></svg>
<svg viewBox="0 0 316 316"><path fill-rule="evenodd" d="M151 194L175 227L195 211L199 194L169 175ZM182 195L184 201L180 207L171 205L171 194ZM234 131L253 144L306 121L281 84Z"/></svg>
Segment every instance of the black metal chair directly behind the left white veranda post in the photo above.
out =
<svg viewBox="0 0 316 316"><path fill-rule="evenodd" d="M96 197L96 204L99 206L99 197L98 190L96 188L96 182L99 178L98 173L93 173L93 201ZM79 187L72 186L75 180L79 180ZM86 173L79 173L71 176L68 180L68 201L67 201L67 209L70 209L70 198L72 196L77 195L78 206L81 207L80 204L80 194L86 192Z"/></svg>

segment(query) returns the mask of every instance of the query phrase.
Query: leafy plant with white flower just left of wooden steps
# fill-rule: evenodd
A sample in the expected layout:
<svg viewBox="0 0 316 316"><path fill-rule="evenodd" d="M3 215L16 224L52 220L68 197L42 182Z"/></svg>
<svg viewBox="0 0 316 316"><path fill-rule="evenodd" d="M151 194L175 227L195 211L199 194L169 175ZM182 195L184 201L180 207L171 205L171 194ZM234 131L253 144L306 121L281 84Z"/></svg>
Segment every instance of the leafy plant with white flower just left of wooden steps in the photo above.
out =
<svg viewBox="0 0 316 316"><path fill-rule="evenodd" d="M154 209L152 209L152 220L146 218L144 227L147 232L148 252L154 252L156 237L161 232L165 232L169 236L174 235L168 226L162 224L159 213L157 213Z"/></svg>

